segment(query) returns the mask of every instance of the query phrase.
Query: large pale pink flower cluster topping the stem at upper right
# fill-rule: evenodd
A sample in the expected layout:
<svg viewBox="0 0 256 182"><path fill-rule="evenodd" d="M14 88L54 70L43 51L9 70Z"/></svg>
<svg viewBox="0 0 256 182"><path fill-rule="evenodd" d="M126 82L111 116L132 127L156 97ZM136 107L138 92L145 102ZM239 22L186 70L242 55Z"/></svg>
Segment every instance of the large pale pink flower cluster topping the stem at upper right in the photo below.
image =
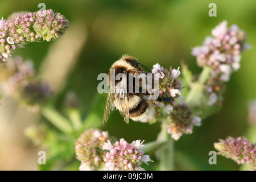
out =
<svg viewBox="0 0 256 182"><path fill-rule="evenodd" d="M212 76L228 81L232 72L240 68L241 53L248 48L245 32L237 25L227 27L221 22L212 30L213 36L205 38L203 46L193 48L199 67L212 68Z"/></svg>

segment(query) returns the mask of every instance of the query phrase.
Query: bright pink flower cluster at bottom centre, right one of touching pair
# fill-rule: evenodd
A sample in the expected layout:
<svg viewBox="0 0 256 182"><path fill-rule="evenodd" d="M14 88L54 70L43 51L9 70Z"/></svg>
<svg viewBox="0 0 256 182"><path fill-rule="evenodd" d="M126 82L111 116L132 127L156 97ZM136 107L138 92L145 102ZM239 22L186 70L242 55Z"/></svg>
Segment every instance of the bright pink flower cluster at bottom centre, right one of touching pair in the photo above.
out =
<svg viewBox="0 0 256 182"><path fill-rule="evenodd" d="M143 151L139 150L142 146L141 140L127 143L125 139L121 138L115 143L108 142L104 143L103 149L108 150L106 152L104 161L105 169L110 171L131 171L131 170L144 170L141 168L141 164L144 162L150 162L150 157L144 155Z"/></svg>

